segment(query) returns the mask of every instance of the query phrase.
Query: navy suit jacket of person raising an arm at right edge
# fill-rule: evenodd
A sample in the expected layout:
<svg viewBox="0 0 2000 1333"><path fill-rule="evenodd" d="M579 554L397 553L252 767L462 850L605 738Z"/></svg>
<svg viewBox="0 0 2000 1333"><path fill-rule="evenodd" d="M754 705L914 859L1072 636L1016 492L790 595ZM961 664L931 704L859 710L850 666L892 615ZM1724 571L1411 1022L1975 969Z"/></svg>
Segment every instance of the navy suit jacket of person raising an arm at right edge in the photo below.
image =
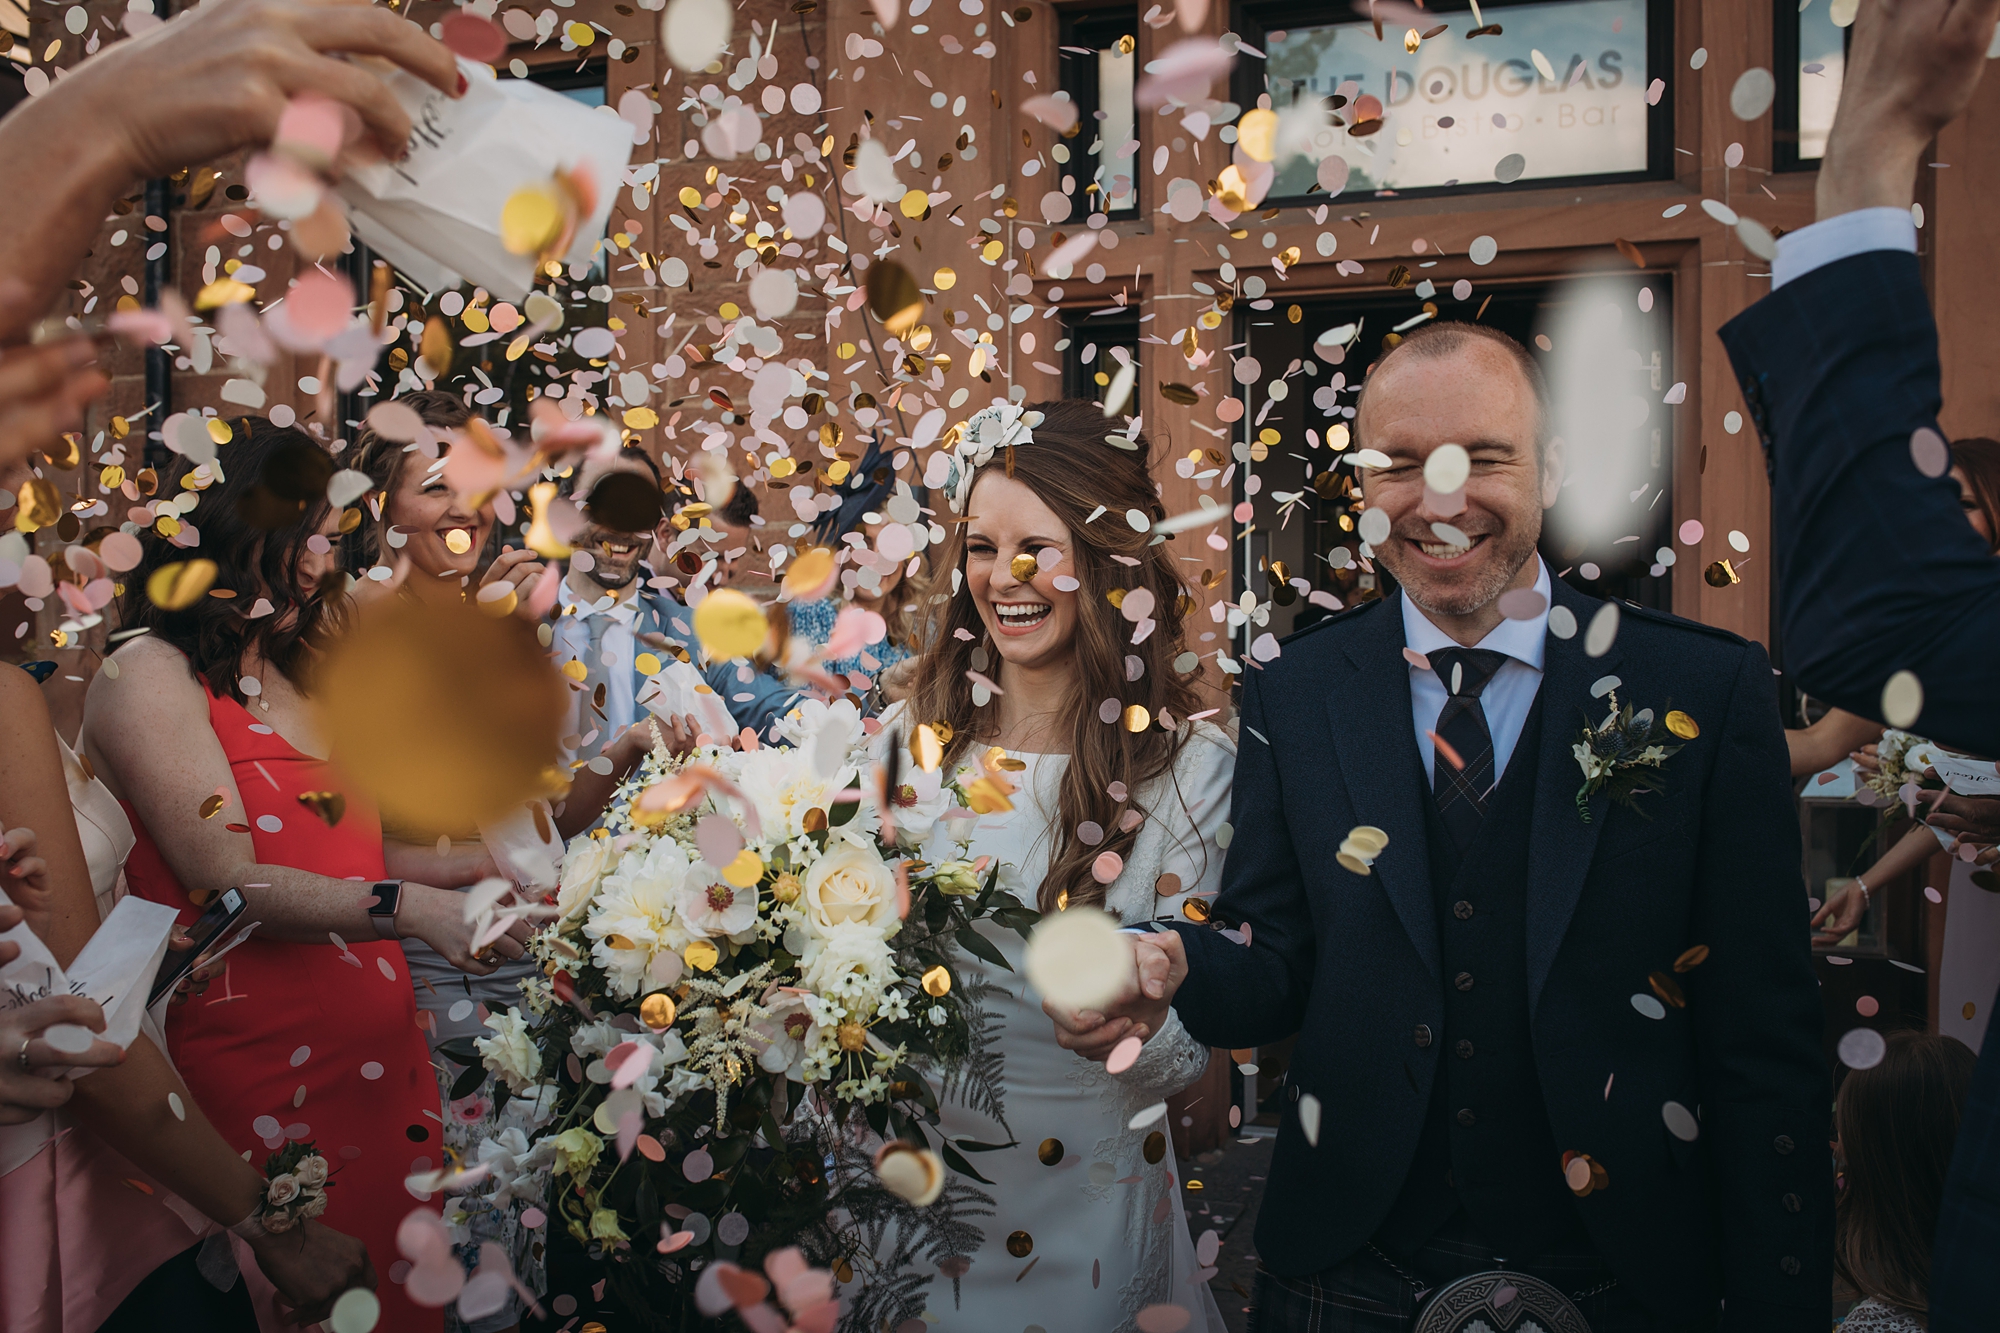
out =
<svg viewBox="0 0 2000 1333"><path fill-rule="evenodd" d="M1914 731L2000 757L2000 560L1964 522L1958 484L1926 476L1910 450L1944 404L1916 256L1816 268L1724 324L1722 342L1772 470L1786 671L1864 717L1882 717L1890 673L1914 671ZM1988 1029L1938 1219L1930 1327L1996 1325L2000 1041Z"/></svg>

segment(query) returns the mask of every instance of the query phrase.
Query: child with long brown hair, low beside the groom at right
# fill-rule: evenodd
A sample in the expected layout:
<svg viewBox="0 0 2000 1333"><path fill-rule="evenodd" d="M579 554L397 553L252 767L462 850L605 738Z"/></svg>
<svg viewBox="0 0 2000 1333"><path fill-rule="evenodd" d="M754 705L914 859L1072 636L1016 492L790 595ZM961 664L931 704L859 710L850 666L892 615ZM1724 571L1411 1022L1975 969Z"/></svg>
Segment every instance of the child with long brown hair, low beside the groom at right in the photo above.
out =
<svg viewBox="0 0 2000 1333"><path fill-rule="evenodd" d="M1936 1033L1890 1033L1834 1101L1834 1269L1864 1299L1842 1333L1924 1333L1944 1173L1976 1061ZM1988 1311L1990 1313L1990 1311Z"/></svg>

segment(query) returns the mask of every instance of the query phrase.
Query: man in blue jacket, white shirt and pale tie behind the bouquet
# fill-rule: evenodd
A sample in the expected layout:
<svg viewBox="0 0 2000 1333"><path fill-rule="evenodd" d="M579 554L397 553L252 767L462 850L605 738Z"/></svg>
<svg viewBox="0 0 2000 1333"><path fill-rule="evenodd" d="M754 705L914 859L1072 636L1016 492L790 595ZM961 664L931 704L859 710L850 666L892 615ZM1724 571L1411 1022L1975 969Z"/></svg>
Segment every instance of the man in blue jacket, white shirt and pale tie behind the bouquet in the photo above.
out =
<svg viewBox="0 0 2000 1333"><path fill-rule="evenodd" d="M632 478L650 484L652 506L644 512L590 502L598 486L606 484L612 486L606 494L638 496L640 492L630 490ZM646 450L628 446L610 464L582 468L572 482L574 492L586 496L588 522L574 540L576 556L570 558L556 598L550 650L558 662L582 669L580 677L570 677L572 721L566 745L570 759L584 761L586 767L576 773L556 821L564 837L582 833L602 815L612 789L638 767L652 745L652 731L644 727L648 711L638 703L648 677L640 669L640 656L650 652L664 662L668 656L688 654L702 660L694 614L668 590L666 576L648 574L640 558L652 548L664 508L660 464ZM706 662L700 671L734 725L764 739L772 737L772 723L798 699L796 689L744 658ZM670 749L686 749L700 733L692 717L678 725L662 723L662 729L664 735L672 733ZM606 763L592 763L596 759Z"/></svg>

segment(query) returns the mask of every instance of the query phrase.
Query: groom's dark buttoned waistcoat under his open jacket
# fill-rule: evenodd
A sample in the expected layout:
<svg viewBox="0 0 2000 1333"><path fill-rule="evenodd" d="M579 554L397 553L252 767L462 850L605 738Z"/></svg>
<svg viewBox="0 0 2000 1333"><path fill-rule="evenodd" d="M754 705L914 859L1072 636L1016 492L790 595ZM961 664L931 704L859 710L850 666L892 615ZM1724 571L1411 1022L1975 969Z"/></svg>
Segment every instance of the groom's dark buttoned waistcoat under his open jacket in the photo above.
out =
<svg viewBox="0 0 2000 1333"><path fill-rule="evenodd" d="M1430 793L1430 889L1444 971L1444 1031L1416 1157L1376 1241L1408 1257L1464 1205L1510 1259L1588 1253L1528 1031L1528 837L1542 701L1522 729L1478 835L1460 857Z"/></svg>

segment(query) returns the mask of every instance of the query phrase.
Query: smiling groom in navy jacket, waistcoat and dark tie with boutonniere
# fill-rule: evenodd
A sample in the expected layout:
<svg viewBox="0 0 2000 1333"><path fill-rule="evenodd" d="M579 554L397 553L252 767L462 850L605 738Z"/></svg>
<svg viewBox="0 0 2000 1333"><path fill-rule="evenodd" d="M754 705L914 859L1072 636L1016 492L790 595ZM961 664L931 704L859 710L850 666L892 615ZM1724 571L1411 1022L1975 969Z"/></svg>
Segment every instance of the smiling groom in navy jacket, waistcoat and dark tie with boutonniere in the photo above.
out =
<svg viewBox="0 0 2000 1333"><path fill-rule="evenodd" d="M1496 1269L1538 1283L1460 1289L1490 1327L1556 1295L1594 1333L1824 1333L1830 1089L1764 650L1616 604L1586 652L1610 604L1536 554L1562 446L1506 334L1410 334L1356 428L1388 454L1366 500L1402 590L1246 675L1214 919L1248 947L1136 937L1136 989L1052 1011L1058 1039L1102 1059L1168 1005L1212 1047L1298 1035L1256 1231L1266 1333L1408 1331ZM1462 508L1424 484L1446 442L1472 456ZM1612 689L1694 727L1646 771L1660 791L1586 817L1572 747ZM1372 867L1368 833L1336 861L1370 825Z"/></svg>

